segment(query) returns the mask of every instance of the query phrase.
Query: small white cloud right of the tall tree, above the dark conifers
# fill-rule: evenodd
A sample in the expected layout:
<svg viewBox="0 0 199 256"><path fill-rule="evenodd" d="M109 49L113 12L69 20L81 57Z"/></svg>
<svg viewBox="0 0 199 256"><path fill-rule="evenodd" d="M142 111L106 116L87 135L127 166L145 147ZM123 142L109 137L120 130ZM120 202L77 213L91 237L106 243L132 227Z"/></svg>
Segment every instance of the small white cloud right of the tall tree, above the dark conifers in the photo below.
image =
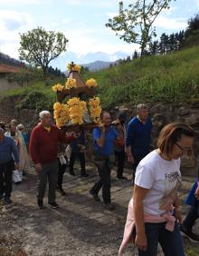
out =
<svg viewBox="0 0 199 256"><path fill-rule="evenodd" d="M160 15L156 18L154 25L164 29L179 30L185 29L187 26L187 20L185 18L171 18Z"/></svg>

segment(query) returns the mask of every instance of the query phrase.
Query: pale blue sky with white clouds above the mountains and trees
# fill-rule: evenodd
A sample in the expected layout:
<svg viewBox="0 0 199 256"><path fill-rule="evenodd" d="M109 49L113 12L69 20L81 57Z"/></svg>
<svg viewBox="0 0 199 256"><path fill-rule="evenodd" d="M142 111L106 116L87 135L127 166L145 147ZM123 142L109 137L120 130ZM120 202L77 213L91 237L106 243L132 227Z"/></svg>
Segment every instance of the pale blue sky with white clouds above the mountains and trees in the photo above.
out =
<svg viewBox="0 0 199 256"><path fill-rule="evenodd" d="M20 33L37 26L59 31L69 40L67 53L81 56L103 52L117 59L117 52L133 54L137 44L128 44L105 26L118 14L118 0L0 0L0 52L18 58ZM124 0L124 5L135 0ZM199 0L172 1L170 10L156 19L157 34L185 29L199 13ZM115 55L114 55L115 54Z"/></svg>

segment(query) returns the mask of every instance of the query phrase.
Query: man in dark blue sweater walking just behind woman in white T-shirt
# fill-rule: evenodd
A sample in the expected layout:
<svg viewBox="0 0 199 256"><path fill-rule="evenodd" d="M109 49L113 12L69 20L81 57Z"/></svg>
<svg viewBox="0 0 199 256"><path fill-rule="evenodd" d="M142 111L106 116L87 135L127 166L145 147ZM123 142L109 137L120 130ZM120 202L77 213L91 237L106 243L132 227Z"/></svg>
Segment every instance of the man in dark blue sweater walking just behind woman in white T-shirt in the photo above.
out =
<svg viewBox="0 0 199 256"><path fill-rule="evenodd" d="M152 122L148 117L146 104L137 105L137 116L128 123L126 147L128 162L133 165L133 180L138 163L149 153L151 143Z"/></svg>

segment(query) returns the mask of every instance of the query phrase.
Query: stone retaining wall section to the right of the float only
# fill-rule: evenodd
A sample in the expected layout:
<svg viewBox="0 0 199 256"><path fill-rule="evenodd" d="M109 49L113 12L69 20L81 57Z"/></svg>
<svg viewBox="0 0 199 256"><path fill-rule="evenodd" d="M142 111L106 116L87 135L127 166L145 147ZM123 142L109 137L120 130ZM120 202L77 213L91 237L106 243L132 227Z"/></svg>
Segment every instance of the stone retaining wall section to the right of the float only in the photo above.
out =
<svg viewBox="0 0 199 256"><path fill-rule="evenodd" d="M195 103L149 103L149 112L153 122L152 137L156 146L156 139L160 130L166 123L185 122L191 125L196 132L194 139L194 151L189 157L182 157L182 172L185 175L195 176L196 172L196 156L199 155L199 102ZM128 118L136 114L136 105L132 108L120 106L116 108L125 110Z"/></svg>

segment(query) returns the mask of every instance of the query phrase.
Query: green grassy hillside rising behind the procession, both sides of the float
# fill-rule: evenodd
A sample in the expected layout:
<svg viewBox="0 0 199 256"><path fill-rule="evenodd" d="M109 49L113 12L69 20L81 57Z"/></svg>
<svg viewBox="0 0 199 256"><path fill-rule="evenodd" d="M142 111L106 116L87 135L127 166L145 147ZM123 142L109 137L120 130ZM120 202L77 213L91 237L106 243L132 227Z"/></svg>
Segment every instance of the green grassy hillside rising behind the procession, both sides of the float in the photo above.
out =
<svg viewBox="0 0 199 256"><path fill-rule="evenodd" d="M84 74L83 79L94 78L103 107L138 102L177 103L199 101L199 46L173 54L148 56L131 62L117 64L109 69ZM52 84L43 82L28 88L6 92L1 100L22 96L19 108L42 108L52 105ZM41 97L38 95L41 94ZM43 98L45 99L43 101Z"/></svg>

